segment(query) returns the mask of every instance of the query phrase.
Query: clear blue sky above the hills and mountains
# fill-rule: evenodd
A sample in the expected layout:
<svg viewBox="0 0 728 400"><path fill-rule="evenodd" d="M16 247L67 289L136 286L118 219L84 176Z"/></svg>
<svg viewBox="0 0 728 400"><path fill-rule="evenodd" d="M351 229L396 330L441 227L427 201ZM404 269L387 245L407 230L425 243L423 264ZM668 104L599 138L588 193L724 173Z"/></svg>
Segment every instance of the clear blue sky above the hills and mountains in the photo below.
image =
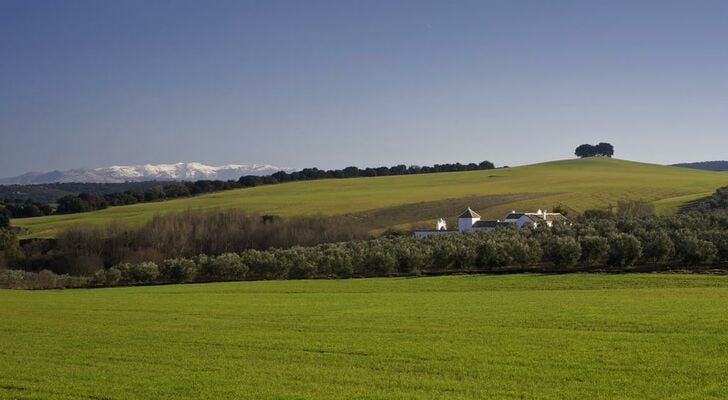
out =
<svg viewBox="0 0 728 400"><path fill-rule="evenodd" d="M0 0L0 176L728 158L728 1Z"/></svg>

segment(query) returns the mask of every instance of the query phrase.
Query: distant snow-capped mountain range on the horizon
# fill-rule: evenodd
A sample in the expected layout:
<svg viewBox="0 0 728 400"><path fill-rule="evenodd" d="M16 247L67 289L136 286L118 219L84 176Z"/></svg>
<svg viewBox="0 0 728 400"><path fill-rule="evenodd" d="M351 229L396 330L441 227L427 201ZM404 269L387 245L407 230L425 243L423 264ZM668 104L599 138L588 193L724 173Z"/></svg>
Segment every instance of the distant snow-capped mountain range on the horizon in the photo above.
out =
<svg viewBox="0 0 728 400"><path fill-rule="evenodd" d="M201 179L237 180L243 175L270 175L293 171L268 164L205 165L197 162L176 164L114 165L103 168L78 168L66 171L28 172L0 178L0 185L39 185L49 183L122 183L142 181L196 181Z"/></svg>

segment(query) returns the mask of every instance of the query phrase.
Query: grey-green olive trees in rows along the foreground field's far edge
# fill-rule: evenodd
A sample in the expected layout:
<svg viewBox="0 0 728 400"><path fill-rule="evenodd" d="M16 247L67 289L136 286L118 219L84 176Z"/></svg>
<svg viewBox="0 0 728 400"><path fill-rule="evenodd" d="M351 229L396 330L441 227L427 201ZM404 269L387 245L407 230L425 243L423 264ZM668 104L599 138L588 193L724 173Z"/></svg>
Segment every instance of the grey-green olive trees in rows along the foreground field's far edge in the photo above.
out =
<svg viewBox="0 0 728 400"><path fill-rule="evenodd" d="M487 271L704 269L728 261L728 214L582 218L552 228L385 237L216 256L124 262L89 285Z"/></svg>

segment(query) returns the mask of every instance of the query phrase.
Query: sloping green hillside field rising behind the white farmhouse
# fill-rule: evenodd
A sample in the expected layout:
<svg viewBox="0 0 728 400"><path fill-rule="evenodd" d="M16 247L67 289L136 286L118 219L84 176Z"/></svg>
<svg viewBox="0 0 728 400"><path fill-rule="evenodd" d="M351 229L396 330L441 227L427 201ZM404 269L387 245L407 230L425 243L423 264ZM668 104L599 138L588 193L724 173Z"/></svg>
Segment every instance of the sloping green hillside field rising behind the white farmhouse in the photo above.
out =
<svg viewBox="0 0 728 400"><path fill-rule="evenodd" d="M293 182L84 214L16 219L13 224L26 229L25 237L48 237L75 223L140 223L158 213L240 208L280 216L350 214L366 220L377 215L372 227L384 228L452 217L465 203L484 217L501 217L511 209L563 204L583 211L619 200L653 202L658 211L669 213L725 185L725 172L589 158L487 171Z"/></svg>

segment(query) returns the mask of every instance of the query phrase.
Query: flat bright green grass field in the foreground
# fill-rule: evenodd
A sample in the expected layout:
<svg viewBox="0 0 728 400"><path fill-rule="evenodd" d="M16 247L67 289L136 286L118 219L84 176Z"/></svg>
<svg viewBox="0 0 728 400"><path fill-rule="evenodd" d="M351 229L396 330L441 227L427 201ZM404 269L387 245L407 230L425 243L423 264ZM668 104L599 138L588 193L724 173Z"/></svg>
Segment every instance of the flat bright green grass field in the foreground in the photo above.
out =
<svg viewBox="0 0 728 400"><path fill-rule="evenodd" d="M0 398L728 397L728 277L0 290Z"/></svg>

